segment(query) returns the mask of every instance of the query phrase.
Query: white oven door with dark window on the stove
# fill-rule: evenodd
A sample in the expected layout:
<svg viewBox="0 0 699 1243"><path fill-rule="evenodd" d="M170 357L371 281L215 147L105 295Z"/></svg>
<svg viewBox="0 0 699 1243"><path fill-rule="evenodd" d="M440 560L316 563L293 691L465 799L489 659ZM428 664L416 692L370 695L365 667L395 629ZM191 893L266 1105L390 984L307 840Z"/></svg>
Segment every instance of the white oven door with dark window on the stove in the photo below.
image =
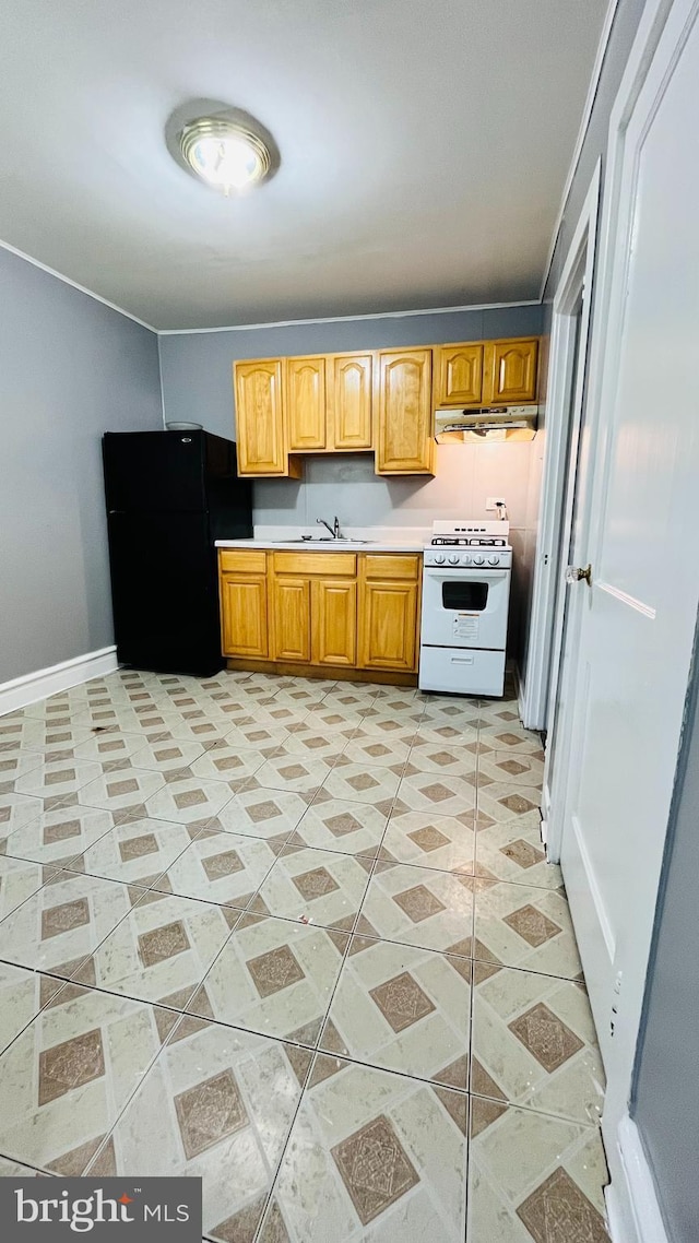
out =
<svg viewBox="0 0 699 1243"><path fill-rule="evenodd" d="M422 643L504 650L509 600L509 569L425 567Z"/></svg>

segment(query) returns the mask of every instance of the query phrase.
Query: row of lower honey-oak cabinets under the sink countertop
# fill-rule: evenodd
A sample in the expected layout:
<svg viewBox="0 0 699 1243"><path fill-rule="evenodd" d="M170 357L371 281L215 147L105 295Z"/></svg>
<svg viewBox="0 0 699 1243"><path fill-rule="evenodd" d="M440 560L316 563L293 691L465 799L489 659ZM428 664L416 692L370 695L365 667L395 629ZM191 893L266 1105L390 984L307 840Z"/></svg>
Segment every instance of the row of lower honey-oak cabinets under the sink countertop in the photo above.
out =
<svg viewBox="0 0 699 1243"><path fill-rule="evenodd" d="M220 549L224 656L414 674L420 557L415 553Z"/></svg>

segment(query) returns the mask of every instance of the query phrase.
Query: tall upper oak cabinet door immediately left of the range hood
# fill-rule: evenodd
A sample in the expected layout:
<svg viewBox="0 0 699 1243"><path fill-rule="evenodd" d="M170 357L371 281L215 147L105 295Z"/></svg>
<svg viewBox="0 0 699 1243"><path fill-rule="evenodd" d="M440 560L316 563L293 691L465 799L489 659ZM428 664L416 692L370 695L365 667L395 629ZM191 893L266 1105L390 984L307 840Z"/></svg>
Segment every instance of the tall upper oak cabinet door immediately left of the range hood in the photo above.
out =
<svg viewBox="0 0 699 1243"><path fill-rule="evenodd" d="M378 475L433 475L432 349L378 355Z"/></svg>

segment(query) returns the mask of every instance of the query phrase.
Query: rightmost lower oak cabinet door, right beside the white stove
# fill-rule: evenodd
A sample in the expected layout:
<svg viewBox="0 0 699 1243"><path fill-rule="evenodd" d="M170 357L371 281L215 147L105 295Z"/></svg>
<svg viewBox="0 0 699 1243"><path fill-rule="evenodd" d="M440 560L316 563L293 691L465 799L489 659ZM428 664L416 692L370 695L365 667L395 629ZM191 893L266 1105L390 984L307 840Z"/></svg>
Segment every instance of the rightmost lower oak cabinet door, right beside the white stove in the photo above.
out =
<svg viewBox="0 0 699 1243"><path fill-rule="evenodd" d="M417 667L418 584L362 583L359 604L359 667Z"/></svg>

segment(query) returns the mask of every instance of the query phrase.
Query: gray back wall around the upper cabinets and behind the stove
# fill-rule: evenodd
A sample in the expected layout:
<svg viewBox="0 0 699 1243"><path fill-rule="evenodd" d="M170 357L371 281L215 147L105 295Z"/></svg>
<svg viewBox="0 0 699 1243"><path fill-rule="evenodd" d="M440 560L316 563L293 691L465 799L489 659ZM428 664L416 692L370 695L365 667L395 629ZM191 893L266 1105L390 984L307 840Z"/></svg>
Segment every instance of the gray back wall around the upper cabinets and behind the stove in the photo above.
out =
<svg viewBox="0 0 699 1243"><path fill-rule="evenodd" d="M160 369L167 419L194 420L221 436L234 434L233 363L240 358L434 346L539 333L540 306L455 311L231 328L160 336ZM534 546L525 538L530 501L530 461L536 441L509 445L439 446L434 479L382 479L372 454L308 456L303 479L260 480L254 485L256 523L312 527L316 517L337 515L345 526L430 526L434 518L493 517L486 496L506 498L512 525L515 571L509 651L520 645L521 585L531 577Z"/></svg>

